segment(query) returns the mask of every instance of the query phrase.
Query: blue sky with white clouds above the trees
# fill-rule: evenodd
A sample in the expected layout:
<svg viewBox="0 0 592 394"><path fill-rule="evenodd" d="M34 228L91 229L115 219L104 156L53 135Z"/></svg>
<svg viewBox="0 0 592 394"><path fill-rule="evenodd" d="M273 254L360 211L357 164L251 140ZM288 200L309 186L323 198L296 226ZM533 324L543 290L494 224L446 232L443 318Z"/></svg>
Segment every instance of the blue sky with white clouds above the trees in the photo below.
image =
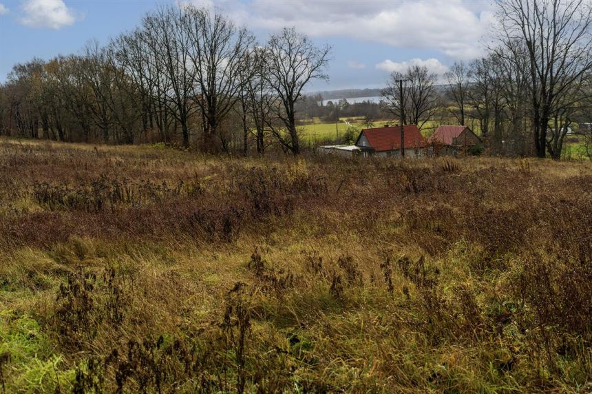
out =
<svg viewBox="0 0 592 394"><path fill-rule="evenodd" d="M330 45L330 79L309 91L383 87L391 72L414 64L442 75L483 54L495 13L489 0L182 1L227 14L261 43L286 26ZM0 83L15 63L107 43L159 3L178 0L0 0Z"/></svg>

